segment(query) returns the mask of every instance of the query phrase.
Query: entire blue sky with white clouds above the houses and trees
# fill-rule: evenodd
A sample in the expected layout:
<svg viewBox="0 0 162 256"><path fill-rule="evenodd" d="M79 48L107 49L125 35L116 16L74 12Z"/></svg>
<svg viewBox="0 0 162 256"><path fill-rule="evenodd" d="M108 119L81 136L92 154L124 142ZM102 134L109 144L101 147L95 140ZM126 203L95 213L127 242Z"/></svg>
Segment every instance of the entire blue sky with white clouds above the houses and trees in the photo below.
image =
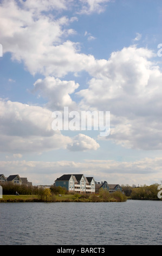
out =
<svg viewBox="0 0 162 256"><path fill-rule="evenodd" d="M0 173L160 184L161 21L161 0L1 0ZM108 135L54 129L65 107L110 113Z"/></svg>

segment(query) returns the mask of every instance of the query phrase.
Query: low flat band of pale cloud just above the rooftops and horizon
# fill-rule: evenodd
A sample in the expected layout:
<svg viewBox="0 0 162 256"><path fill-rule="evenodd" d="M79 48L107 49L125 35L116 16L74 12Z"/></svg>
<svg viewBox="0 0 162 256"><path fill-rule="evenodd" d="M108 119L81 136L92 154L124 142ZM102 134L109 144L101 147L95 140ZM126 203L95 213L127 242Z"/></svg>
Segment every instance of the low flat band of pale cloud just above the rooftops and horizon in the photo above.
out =
<svg viewBox="0 0 162 256"><path fill-rule="evenodd" d="M1 161L0 172L5 176L26 176L34 185L51 185L62 174L83 173L94 176L95 181L106 180L109 184L151 185L160 183L161 157L134 162L113 160L74 161Z"/></svg>

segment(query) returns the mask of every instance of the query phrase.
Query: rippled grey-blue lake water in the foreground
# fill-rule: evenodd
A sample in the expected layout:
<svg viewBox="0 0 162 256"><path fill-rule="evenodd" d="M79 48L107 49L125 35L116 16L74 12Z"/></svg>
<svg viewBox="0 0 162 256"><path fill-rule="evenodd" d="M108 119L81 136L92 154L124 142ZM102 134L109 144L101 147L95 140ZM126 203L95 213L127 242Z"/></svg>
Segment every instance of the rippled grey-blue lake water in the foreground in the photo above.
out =
<svg viewBox="0 0 162 256"><path fill-rule="evenodd" d="M1 203L0 245L161 245L162 202Z"/></svg>

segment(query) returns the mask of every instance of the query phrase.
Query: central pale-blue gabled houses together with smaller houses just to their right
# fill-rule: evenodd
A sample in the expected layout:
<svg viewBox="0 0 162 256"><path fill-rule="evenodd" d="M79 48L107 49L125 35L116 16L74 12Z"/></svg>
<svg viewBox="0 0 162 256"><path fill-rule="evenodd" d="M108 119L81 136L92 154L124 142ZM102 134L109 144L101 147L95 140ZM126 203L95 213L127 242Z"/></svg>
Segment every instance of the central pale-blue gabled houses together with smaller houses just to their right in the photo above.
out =
<svg viewBox="0 0 162 256"><path fill-rule="evenodd" d="M110 193L122 192L119 184L108 184L107 181L97 184L93 177L86 177L83 174L64 174L55 180L54 186L65 187L67 191L77 193L99 193L100 188L108 190Z"/></svg>

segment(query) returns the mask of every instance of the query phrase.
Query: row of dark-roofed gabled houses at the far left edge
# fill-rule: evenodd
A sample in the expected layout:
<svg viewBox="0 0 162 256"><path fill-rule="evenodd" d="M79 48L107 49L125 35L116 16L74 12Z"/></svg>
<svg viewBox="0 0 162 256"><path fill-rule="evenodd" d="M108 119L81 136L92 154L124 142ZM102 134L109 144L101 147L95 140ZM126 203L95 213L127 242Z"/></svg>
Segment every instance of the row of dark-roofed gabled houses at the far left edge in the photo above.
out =
<svg viewBox="0 0 162 256"><path fill-rule="evenodd" d="M0 184L11 182L12 184L19 184L24 186L32 186L32 182L29 182L27 178L21 178L18 174L5 177L4 174L0 174Z"/></svg>

